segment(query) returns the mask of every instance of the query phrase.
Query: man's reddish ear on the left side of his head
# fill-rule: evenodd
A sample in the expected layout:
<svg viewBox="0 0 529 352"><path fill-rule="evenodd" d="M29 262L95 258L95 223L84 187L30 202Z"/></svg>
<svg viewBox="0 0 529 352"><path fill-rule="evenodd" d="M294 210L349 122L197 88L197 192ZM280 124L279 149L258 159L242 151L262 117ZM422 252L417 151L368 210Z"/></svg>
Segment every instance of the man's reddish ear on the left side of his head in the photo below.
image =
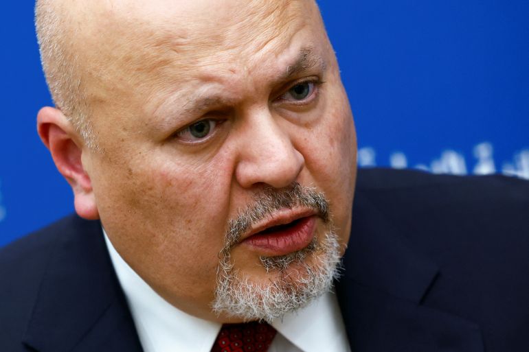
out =
<svg viewBox="0 0 529 352"><path fill-rule="evenodd" d="M89 174L82 165L84 143L70 121L56 109L45 107L37 115L37 131L52 154L55 166L74 191L76 213L88 220L99 219Z"/></svg>

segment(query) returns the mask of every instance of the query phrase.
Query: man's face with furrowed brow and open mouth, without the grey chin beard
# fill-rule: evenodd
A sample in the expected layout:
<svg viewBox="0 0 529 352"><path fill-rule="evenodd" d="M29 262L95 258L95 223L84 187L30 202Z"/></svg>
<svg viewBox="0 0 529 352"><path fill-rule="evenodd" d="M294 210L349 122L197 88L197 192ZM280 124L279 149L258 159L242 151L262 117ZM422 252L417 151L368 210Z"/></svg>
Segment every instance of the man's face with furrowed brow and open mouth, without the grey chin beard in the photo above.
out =
<svg viewBox="0 0 529 352"><path fill-rule="evenodd" d="M240 320L211 309L230 220L297 184L328 200L344 250L356 141L312 1L102 1L83 16L102 150L85 149L83 165L111 242L161 296ZM297 263L267 270L263 260L323 244L330 225L315 209L286 204L250 221L229 246L232 271L258 286L303 279Z"/></svg>

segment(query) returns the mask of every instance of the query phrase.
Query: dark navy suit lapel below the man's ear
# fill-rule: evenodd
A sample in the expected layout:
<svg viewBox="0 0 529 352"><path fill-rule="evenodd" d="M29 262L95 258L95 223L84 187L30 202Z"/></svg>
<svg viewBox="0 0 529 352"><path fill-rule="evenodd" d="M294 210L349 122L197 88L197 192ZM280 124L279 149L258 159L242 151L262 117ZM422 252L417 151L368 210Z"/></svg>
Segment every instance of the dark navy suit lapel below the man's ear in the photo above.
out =
<svg viewBox="0 0 529 352"><path fill-rule="evenodd" d="M41 352L142 351L100 222L69 222L45 270L24 343Z"/></svg>

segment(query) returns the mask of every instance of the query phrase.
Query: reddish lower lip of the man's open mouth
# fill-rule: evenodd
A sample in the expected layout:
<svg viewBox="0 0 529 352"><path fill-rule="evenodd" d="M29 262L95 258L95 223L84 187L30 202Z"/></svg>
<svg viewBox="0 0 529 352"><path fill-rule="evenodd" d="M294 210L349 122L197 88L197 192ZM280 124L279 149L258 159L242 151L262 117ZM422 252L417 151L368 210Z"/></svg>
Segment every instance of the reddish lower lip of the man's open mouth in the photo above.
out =
<svg viewBox="0 0 529 352"><path fill-rule="evenodd" d="M315 216L297 220L297 224L271 233L256 233L243 241L265 255L287 255L302 250L310 244L316 226Z"/></svg>

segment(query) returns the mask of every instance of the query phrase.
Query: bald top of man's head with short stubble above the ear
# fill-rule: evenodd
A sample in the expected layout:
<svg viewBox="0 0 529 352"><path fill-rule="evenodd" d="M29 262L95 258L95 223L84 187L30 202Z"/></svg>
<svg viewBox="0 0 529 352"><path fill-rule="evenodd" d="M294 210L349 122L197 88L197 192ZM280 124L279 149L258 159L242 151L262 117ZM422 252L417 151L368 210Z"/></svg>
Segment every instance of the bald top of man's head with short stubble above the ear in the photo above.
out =
<svg viewBox="0 0 529 352"><path fill-rule="evenodd" d="M265 45L285 30L277 16L289 26L307 6L316 8L315 1L37 0L36 32L54 104L86 145L97 149L94 104L141 84L135 73L157 71L169 62L188 67L219 47L229 48L235 34L245 37L256 23ZM238 45L256 39L247 35ZM166 55L154 50L160 47Z"/></svg>

